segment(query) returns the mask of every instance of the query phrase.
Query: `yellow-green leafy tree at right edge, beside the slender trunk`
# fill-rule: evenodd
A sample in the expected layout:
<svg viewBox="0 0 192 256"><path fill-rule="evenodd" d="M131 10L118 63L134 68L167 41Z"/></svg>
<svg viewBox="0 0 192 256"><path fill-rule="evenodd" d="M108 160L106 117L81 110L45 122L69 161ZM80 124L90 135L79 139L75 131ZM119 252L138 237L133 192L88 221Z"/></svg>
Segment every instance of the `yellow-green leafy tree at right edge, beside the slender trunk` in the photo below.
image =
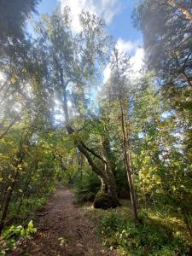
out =
<svg viewBox="0 0 192 256"><path fill-rule="evenodd" d="M145 77L145 83L148 87L138 91L131 115L138 200L182 218L191 235L190 153L183 129L188 120L170 111L151 76Z"/></svg>

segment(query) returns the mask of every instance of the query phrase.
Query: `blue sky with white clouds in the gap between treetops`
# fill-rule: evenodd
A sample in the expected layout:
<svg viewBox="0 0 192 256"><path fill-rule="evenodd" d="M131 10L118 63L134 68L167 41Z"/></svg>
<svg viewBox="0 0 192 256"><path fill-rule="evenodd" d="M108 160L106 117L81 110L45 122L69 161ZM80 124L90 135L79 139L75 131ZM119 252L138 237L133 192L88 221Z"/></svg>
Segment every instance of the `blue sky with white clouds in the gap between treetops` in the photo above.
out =
<svg viewBox="0 0 192 256"><path fill-rule="evenodd" d="M134 73L139 73L143 66L144 50L140 32L132 25L131 13L139 0L42 0L38 4L38 14L51 14L61 4L61 9L66 5L70 7L73 20L73 29L79 32L79 13L82 9L102 17L108 26L109 33L113 36L116 47L131 56ZM36 16L37 17L37 16ZM32 26L27 26L32 32ZM107 66L103 72L104 81L110 75Z"/></svg>

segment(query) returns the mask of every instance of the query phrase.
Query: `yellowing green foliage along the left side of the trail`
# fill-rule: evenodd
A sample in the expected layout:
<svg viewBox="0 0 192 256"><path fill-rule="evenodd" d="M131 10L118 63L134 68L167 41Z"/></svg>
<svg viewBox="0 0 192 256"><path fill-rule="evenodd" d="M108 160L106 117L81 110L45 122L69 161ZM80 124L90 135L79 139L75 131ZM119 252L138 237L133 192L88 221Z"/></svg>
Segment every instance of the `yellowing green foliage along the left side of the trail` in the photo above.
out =
<svg viewBox="0 0 192 256"><path fill-rule="evenodd" d="M0 201L3 202L0 218L4 223L32 216L53 192L61 175L50 144L48 146L50 134L44 137L32 131L28 122L15 125L14 132L9 131L0 141ZM24 128L31 130L30 136L22 133Z"/></svg>

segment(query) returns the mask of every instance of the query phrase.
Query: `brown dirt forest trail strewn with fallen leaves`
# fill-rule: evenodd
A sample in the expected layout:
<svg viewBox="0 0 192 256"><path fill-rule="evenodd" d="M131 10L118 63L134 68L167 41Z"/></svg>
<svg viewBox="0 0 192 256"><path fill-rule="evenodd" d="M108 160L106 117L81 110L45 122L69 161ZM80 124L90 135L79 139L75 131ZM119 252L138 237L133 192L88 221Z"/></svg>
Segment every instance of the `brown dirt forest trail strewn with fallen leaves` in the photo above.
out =
<svg viewBox="0 0 192 256"><path fill-rule="evenodd" d="M10 255L118 255L102 247L102 241L96 236L96 224L84 213L83 207L73 205L71 189L56 189L47 205L37 212L36 235Z"/></svg>

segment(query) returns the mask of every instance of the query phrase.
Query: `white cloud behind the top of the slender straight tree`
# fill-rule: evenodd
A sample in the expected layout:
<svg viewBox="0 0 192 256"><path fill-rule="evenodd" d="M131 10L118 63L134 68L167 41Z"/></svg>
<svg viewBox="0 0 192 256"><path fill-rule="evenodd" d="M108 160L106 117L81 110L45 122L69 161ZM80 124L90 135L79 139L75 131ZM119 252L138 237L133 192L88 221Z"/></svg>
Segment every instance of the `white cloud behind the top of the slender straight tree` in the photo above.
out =
<svg viewBox="0 0 192 256"><path fill-rule="evenodd" d="M138 42L125 41L122 38L119 38L115 47L119 52L124 52L127 55L130 55L131 63L131 77L137 79L141 76L141 69L143 68L143 58L144 58L144 49L138 46ZM103 71L103 82L106 83L111 70L110 65L108 64Z"/></svg>

